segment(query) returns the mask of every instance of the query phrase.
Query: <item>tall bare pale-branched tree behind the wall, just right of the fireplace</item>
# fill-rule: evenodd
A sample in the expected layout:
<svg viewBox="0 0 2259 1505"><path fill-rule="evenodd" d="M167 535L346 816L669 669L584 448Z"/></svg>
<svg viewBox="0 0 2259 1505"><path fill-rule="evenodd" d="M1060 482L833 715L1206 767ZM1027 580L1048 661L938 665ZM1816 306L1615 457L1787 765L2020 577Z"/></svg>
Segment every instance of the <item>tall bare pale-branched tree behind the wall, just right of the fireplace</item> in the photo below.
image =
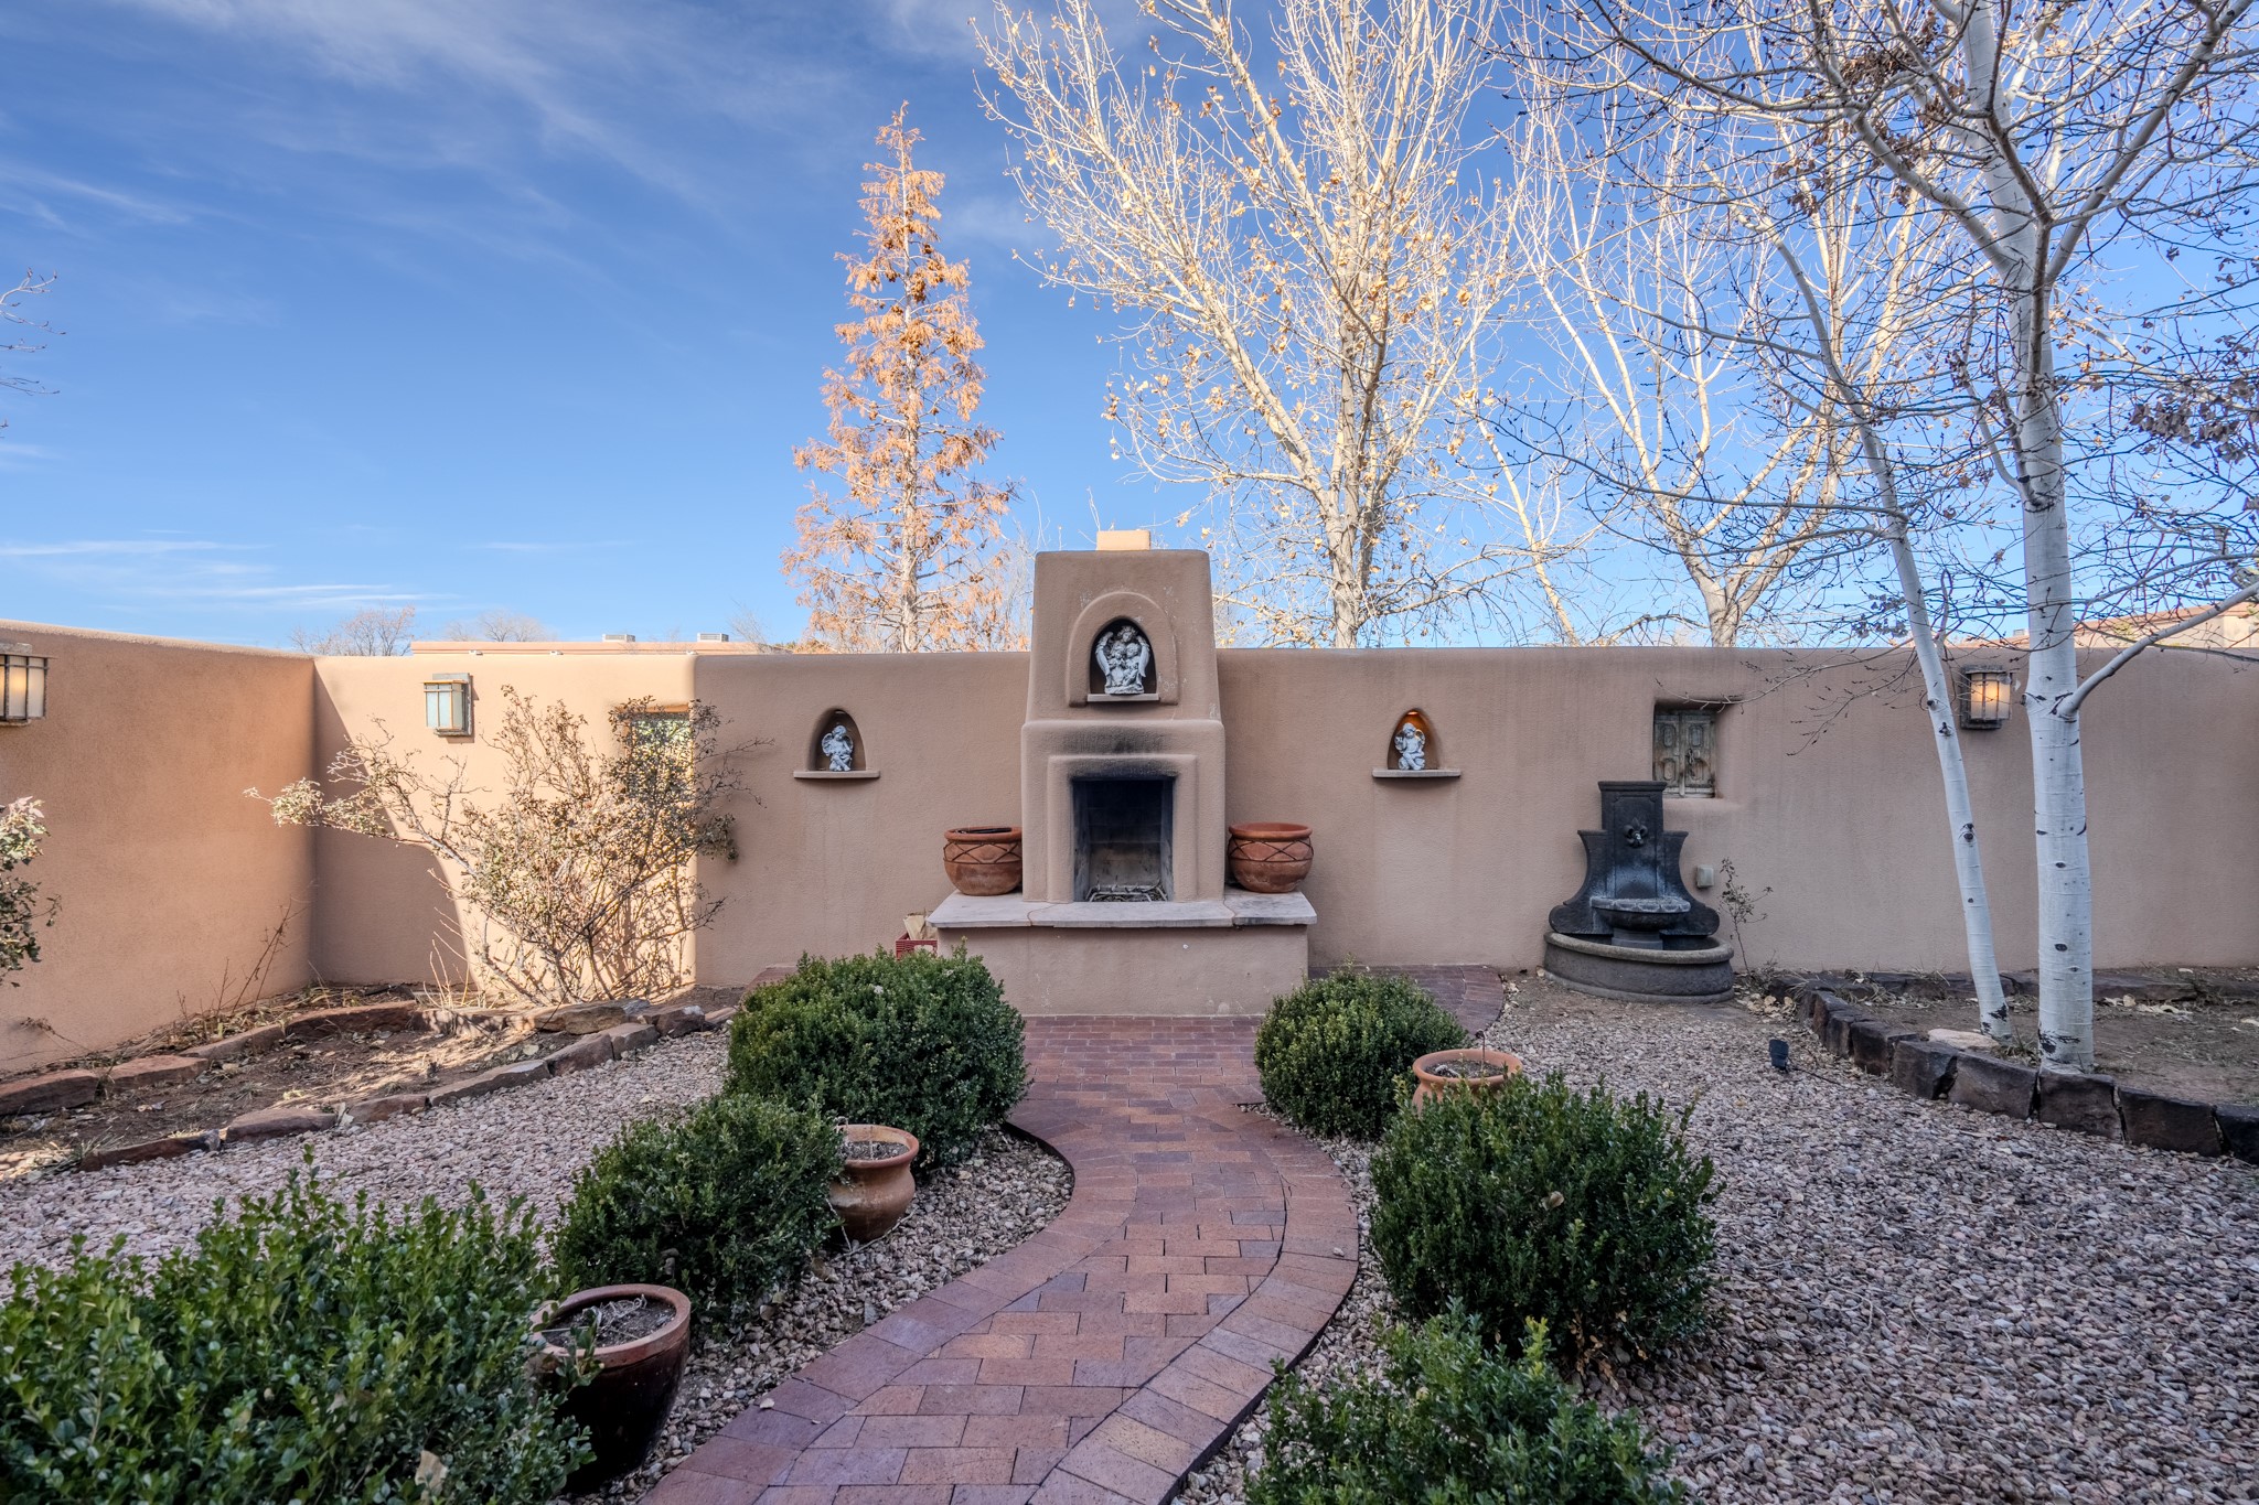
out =
<svg viewBox="0 0 2259 1505"><path fill-rule="evenodd" d="M1044 275L1136 323L1107 413L1200 485L1224 598L1272 641L1353 648L1527 566L1462 465L1514 287L1471 111L1495 0L1150 0L1150 59L1093 0L998 5L980 43ZM1186 512L1179 521L1190 521Z"/></svg>

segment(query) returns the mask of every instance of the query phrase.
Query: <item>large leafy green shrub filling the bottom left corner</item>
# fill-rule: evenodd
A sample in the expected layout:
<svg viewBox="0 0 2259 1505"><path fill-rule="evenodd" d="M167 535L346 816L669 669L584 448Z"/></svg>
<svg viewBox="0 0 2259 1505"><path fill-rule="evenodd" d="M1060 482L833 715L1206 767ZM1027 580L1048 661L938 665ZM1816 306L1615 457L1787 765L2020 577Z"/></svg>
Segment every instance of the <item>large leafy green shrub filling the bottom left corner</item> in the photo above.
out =
<svg viewBox="0 0 2259 1505"><path fill-rule="evenodd" d="M72 1246L0 1302L0 1500L549 1500L587 1458L526 1372L540 1232L312 1178L151 1273Z"/></svg>

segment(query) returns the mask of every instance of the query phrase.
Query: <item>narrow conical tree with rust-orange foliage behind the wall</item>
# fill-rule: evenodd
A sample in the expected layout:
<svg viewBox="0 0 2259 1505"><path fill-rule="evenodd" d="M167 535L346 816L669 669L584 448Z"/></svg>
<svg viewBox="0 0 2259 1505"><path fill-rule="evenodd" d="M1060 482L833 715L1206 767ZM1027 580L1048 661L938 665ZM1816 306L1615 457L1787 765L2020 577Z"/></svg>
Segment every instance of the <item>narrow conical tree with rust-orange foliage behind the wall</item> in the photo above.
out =
<svg viewBox="0 0 2259 1505"><path fill-rule="evenodd" d="M969 271L935 241L942 174L910 162L908 106L879 131L883 160L863 185L870 219L847 262L838 325L845 370L825 370L825 440L793 451L809 487L784 569L800 582L809 636L845 652L1021 648L1008 600L1003 517L1012 487L978 476L996 431L980 406L980 332Z"/></svg>

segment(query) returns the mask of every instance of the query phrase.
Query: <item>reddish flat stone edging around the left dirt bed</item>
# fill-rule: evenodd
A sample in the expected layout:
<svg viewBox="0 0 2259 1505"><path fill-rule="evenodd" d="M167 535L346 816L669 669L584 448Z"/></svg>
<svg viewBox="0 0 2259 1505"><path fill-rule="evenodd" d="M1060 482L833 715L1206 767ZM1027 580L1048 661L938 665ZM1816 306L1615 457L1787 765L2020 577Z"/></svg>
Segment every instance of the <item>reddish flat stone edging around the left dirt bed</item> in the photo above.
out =
<svg viewBox="0 0 2259 1505"><path fill-rule="evenodd" d="M431 1092L386 1092L380 1097L366 1097L357 1103L343 1103L339 1112L289 1103L258 1108L228 1119L219 1128L174 1133L160 1139L142 1139L138 1144L90 1148L75 1162L72 1169L102 1171L113 1164L138 1164L142 1160L190 1155L194 1151L217 1151L226 1144L253 1144L258 1139L280 1139L287 1135L321 1133L355 1124L382 1124L384 1119L400 1117L402 1112L422 1112L427 1108L443 1108L447 1103L486 1097L488 1092L549 1081L551 1076L572 1076L574 1072L585 1072L621 1058L628 1051L644 1049L660 1038L721 1029L732 1013L736 1013L734 1004L712 1013L698 1004L651 1009L648 1013L630 1018L623 1024L574 1036L567 1045L549 1051L547 1056L511 1060L508 1065L490 1067L477 1076L445 1083ZM319 1009L278 1024L262 1024L260 1029L246 1029L244 1033L228 1036L224 1040L197 1045L176 1056L142 1056L140 1060L124 1060L108 1072L45 1072L41 1076L27 1076L23 1081L0 1085L0 1117L81 1108L102 1097L102 1092L113 1083L158 1085L167 1081L187 1081L210 1070L212 1063L233 1060L246 1051L282 1045L285 1040L319 1040L323 1036L370 1029L429 1033L438 1027L441 1020L436 1013L416 1004L395 1002L350 1009Z"/></svg>

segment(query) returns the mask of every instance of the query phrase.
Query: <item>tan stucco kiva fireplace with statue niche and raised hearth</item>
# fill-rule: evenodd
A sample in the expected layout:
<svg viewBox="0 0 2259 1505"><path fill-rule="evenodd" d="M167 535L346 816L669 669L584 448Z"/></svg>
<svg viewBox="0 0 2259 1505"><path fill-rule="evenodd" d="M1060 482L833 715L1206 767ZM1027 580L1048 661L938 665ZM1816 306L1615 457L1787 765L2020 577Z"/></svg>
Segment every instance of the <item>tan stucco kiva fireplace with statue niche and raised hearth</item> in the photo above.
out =
<svg viewBox="0 0 2259 1505"><path fill-rule="evenodd" d="M1308 970L1301 894L1224 884L1224 722L1202 551L1035 560L1019 894L933 909L1023 1013L1258 1013Z"/></svg>

